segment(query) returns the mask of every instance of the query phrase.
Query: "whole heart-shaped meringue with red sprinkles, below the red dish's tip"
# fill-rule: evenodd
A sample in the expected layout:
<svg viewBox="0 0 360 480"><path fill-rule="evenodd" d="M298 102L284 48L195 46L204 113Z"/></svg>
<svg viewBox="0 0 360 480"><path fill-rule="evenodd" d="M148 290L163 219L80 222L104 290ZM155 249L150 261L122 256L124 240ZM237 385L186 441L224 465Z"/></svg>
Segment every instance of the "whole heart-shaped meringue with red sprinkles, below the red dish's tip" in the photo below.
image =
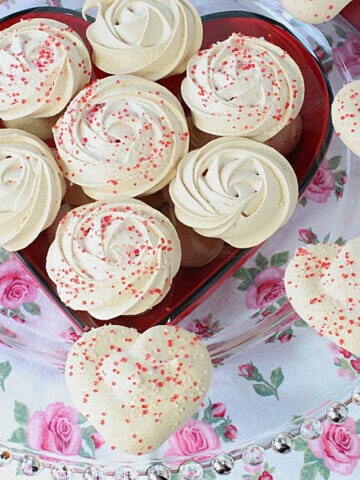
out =
<svg viewBox="0 0 360 480"><path fill-rule="evenodd" d="M211 374L198 337L163 325L143 334L112 325L90 330L65 369L78 410L110 448L134 455L158 448L196 413Z"/></svg>

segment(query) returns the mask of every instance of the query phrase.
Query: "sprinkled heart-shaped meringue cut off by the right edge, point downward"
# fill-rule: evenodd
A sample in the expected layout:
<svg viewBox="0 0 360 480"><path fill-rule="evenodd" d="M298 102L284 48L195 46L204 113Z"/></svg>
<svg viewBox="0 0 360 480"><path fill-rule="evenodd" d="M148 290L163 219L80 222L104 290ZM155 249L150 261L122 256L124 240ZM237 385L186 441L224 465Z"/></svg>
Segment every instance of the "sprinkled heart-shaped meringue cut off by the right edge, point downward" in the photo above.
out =
<svg viewBox="0 0 360 480"><path fill-rule="evenodd" d="M318 333L360 355L360 237L300 247L285 271L288 299Z"/></svg>

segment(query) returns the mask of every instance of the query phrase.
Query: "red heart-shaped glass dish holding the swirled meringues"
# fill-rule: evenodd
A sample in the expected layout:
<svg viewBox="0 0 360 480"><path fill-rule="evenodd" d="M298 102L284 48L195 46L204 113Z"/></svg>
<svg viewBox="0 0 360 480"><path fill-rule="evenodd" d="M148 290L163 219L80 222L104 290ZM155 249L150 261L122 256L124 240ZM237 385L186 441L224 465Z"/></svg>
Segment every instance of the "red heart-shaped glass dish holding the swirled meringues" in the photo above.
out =
<svg viewBox="0 0 360 480"><path fill-rule="evenodd" d="M85 32L88 22L80 16L79 12L67 9L44 7L26 10L3 19L0 28L6 28L20 18L31 17L49 17L64 21L86 39ZM234 31L241 31L245 34L264 36L267 40L286 49L298 63L305 80L305 101L301 111L304 129L299 146L289 155L288 160L296 172L301 196L323 159L332 134L329 114L332 93L320 64L286 27L265 16L243 11L220 12L204 16L203 25L203 47L209 46L214 41L225 39ZM316 30L314 29L314 31ZM90 49L89 45L88 48ZM102 72L94 69L93 77L99 76L103 76ZM179 95L181 78L181 75L171 77L163 83ZM209 264L199 268L181 268L172 289L158 306L141 315L116 318L112 320L112 323L135 326L143 331L157 323L179 322L253 255L257 248L235 249L225 245L220 255ZM48 240L46 234L43 233L32 245L18 252L18 255L33 274L41 279L45 288L49 288L56 297L55 289L45 272L47 249ZM56 298L55 301L58 302L58 299ZM67 314L81 328L101 324L87 313L67 309Z"/></svg>

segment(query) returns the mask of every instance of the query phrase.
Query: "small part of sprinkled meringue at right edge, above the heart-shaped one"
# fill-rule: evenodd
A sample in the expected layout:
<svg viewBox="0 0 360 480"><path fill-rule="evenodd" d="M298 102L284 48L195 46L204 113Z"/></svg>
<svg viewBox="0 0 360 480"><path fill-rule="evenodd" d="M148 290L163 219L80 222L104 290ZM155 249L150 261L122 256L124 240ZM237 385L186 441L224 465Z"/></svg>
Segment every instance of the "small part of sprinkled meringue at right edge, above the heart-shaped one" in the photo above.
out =
<svg viewBox="0 0 360 480"><path fill-rule="evenodd" d="M331 116L337 136L360 157L360 80L347 83L337 92Z"/></svg>

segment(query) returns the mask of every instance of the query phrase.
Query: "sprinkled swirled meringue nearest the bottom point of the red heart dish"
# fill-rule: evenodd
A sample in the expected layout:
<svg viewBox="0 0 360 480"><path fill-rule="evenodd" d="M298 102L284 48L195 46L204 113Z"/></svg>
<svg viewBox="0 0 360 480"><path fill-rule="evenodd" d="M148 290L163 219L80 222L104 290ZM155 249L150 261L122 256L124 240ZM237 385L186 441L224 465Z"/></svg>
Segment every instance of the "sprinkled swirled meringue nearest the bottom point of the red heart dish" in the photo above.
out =
<svg viewBox="0 0 360 480"><path fill-rule="evenodd" d="M159 303L180 257L178 235L164 215L140 200L118 197L64 215L46 271L67 306L109 320Z"/></svg>

